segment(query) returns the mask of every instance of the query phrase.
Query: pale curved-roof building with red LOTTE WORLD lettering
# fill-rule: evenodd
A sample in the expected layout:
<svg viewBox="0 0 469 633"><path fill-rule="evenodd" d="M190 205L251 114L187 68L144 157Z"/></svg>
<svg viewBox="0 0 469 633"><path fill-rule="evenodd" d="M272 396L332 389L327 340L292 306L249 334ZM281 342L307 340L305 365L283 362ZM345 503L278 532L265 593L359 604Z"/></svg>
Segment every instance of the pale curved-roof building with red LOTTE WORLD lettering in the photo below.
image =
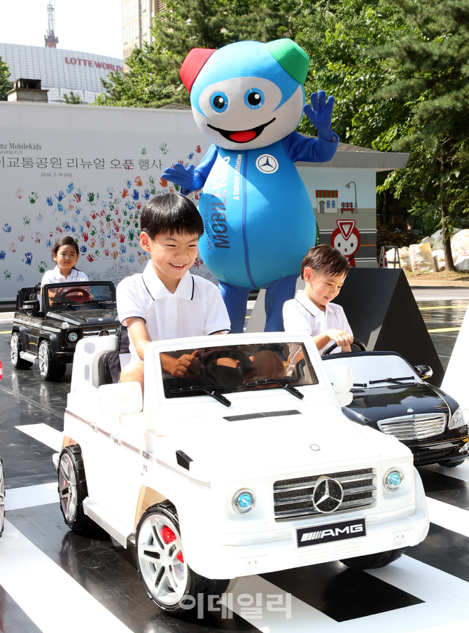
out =
<svg viewBox="0 0 469 633"><path fill-rule="evenodd" d="M122 71L123 60L77 50L0 43L0 57L10 68L10 81L41 79L49 102L64 102L64 93L78 93L92 103L102 93L101 79Z"/></svg>

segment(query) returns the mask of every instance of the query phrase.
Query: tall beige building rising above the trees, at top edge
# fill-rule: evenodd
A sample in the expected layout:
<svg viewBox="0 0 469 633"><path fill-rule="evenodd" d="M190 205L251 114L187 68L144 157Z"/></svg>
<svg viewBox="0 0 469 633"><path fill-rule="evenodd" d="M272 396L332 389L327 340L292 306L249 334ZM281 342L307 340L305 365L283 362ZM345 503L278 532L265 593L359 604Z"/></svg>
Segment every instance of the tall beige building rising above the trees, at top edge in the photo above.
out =
<svg viewBox="0 0 469 633"><path fill-rule="evenodd" d="M160 0L123 0L123 56L124 61L137 46L151 43L151 25L155 15L166 8Z"/></svg>

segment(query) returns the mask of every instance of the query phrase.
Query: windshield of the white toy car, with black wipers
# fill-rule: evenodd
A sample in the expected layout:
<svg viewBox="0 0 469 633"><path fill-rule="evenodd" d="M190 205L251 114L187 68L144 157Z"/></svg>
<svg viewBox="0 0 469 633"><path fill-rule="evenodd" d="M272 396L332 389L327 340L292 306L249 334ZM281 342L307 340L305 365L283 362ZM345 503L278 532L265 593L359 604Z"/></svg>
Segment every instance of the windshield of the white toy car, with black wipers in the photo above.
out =
<svg viewBox="0 0 469 633"><path fill-rule="evenodd" d="M208 394L223 402L223 393L260 389L285 389L302 398L297 387L318 383L302 343L214 345L197 350L177 350L166 355L172 358L194 355L198 360L196 375L190 378L177 378L162 370L167 398Z"/></svg>

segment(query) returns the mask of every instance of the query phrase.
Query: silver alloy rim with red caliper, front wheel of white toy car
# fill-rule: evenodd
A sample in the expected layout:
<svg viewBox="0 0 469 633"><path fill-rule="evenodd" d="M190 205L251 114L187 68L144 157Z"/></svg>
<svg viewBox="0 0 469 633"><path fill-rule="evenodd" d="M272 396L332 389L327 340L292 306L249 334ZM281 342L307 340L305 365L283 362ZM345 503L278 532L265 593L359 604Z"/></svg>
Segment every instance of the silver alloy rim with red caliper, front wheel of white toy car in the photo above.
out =
<svg viewBox="0 0 469 633"><path fill-rule="evenodd" d="M139 529L137 556L142 580L155 601L178 604L186 594L188 566L176 525L159 512L146 517Z"/></svg>

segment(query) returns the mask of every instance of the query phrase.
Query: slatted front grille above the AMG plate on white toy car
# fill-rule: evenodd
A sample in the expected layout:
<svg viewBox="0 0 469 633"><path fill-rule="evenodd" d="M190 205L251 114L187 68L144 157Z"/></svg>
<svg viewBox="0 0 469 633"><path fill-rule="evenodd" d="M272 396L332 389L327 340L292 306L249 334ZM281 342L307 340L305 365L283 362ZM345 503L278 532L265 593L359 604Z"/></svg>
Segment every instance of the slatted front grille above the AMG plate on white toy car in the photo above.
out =
<svg viewBox="0 0 469 633"><path fill-rule="evenodd" d="M376 490L376 472L373 468L362 470L345 470L342 472L323 473L335 479L344 490L344 498L339 508L330 514L370 508L376 503L373 493ZM285 519L304 519L321 515L313 505L314 486L318 477L299 477L283 479L274 483L274 514L276 521Z"/></svg>

